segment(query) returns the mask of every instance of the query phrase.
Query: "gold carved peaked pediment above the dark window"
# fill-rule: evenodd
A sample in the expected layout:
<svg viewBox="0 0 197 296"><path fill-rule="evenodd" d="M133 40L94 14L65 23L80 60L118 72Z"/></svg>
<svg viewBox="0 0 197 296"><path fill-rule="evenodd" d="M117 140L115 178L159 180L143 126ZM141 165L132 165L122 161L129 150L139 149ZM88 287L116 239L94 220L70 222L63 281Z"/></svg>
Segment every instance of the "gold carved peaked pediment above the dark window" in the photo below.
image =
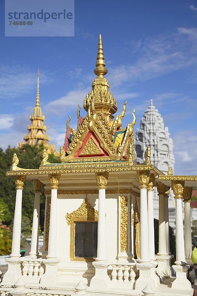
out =
<svg viewBox="0 0 197 296"><path fill-rule="evenodd" d="M99 212L95 210L91 204L88 202L88 199L85 198L83 200L83 203L80 205L80 207L76 210L73 211L72 213L67 213L66 214L66 221L68 225L70 225L71 220L74 219L93 219L97 218L98 219Z"/></svg>

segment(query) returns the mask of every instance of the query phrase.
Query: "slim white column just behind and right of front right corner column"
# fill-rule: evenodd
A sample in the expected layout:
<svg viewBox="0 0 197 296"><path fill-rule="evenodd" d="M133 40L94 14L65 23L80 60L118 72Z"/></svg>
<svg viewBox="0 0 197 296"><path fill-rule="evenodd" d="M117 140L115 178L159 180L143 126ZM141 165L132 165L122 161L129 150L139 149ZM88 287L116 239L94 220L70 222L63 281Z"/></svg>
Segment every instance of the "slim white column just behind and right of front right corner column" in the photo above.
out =
<svg viewBox="0 0 197 296"><path fill-rule="evenodd" d="M155 260L155 230L154 230L154 213L153 213L153 194L154 194L155 176L151 174L148 184L148 244L149 258Z"/></svg>

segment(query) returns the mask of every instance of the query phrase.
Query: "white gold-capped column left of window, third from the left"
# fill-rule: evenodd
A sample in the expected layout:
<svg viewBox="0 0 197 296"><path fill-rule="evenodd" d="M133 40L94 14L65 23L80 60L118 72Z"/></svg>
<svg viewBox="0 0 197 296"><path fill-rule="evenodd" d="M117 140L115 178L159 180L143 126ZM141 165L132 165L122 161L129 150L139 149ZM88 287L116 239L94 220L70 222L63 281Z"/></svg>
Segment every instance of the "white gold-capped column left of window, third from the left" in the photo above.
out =
<svg viewBox="0 0 197 296"><path fill-rule="evenodd" d="M51 182L51 211L49 222L49 242L48 242L48 259L57 258L57 198L59 176L50 176Z"/></svg>

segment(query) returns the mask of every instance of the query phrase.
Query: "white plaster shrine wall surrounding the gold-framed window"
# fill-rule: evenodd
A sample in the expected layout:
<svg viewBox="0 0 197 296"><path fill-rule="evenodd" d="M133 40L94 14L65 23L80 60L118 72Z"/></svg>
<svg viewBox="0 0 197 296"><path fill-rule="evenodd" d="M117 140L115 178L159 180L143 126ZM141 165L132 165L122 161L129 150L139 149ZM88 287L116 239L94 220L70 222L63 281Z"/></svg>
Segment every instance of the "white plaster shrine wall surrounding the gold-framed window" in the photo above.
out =
<svg viewBox="0 0 197 296"><path fill-rule="evenodd" d="M70 225L66 221L66 213L77 210L86 195L58 195L57 216L57 255L61 261L70 261ZM98 196L87 195L89 203L98 210ZM107 259L117 257L117 198L106 195L106 253ZM81 262L82 264L84 262Z"/></svg>

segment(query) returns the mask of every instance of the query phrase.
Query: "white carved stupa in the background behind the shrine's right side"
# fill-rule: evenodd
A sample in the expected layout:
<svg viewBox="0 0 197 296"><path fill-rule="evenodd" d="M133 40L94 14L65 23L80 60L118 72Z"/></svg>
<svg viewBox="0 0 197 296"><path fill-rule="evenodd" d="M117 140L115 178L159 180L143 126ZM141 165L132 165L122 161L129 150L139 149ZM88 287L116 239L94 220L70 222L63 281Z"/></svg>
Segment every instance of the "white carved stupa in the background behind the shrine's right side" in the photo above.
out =
<svg viewBox="0 0 197 296"><path fill-rule="evenodd" d="M134 135L136 162L144 161L147 146L151 148L151 162L164 174L168 168L174 167L173 141L170 138L168 127L164 126L164 119L151 100L150 106L145 111L140 121L140 129ZM157 188L154 196L154 218L158 217L159 197ZM169 196L169 224L175 228L175 203L173 193Z"/></svg>

